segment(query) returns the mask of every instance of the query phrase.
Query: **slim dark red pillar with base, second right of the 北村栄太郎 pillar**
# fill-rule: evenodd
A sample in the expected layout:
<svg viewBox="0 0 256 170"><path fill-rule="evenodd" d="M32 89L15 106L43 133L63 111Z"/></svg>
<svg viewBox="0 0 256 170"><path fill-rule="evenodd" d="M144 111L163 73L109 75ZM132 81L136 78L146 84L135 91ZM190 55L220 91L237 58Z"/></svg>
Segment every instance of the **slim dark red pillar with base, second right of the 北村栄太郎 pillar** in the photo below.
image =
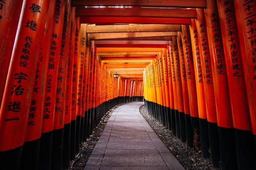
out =
<svg viewBox="0 0 256 170"><path fill-rule="evenodd" d="M72 97L71 97L71 141L70 141L70 159L75 158L76 154L76 98L77 98L77 80L78 80L78 53L79 53L79 38L80 38L80 18L76 17L76 30L75 40L74 40L74 63L73 63L73 72L72 72ZM73 30L74 31L74 30Z"/></svg>

